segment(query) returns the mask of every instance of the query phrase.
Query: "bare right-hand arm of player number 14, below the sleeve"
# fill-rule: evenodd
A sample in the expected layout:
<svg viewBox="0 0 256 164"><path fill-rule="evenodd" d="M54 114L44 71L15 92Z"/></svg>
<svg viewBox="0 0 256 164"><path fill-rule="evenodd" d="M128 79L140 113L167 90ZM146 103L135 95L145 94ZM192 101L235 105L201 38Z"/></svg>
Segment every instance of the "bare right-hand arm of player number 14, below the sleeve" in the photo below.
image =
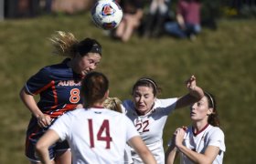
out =
<svg viewBox="0 0 256 164"><path fill-rule="evenodd" d="M143 159L145 164L156 164L155 158L149 149L144 144L144 141L141 137L136 136L128 141L129 145L135 149L139 156Z"/></svg>

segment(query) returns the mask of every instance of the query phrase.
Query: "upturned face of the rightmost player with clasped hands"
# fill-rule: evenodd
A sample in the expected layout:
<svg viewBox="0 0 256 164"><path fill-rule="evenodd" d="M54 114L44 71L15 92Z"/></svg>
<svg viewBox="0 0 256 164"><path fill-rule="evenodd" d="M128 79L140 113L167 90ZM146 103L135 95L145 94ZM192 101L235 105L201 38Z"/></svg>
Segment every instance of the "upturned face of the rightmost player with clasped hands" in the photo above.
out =
<svg viewBox="0 0 256 164"><path fill-rule="evenodd" d="M202 97L190 107L190 118L194 121L208 120L211 110L208 108L208 98Z"/></svg>

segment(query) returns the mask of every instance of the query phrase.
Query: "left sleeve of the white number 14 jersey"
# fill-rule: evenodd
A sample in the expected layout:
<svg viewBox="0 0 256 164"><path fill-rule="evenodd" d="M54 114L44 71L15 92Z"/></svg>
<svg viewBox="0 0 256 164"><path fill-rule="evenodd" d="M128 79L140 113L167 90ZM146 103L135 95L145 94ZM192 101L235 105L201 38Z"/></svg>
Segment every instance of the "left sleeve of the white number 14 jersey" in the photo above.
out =
<svg viewBox="0 0 256 164"><path fill-rule="evenodd" d="M69 127L71 124L71 120L72 118L69 112L62 115L53 123L52 126L50 126L50 129L53 129L57 132L61 141L65 140L69 136Z"/></svg>

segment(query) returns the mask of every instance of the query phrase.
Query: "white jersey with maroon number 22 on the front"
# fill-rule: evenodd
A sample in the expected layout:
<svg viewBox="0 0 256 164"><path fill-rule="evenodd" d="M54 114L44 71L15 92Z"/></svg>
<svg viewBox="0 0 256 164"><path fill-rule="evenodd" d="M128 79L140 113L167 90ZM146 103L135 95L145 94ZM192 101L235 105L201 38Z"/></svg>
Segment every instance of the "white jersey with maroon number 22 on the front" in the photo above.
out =
<svg viewBox="0 0 256 164"><path fill-rule="evenodd" d="M163 147L163 130L168 115L175 109L177 98L157 99L154 108L144 116L138 116L133 101L123 101L126 116L133 121L145 145L152 152L158 164L165 163ZM131 148L133 163L143 163L138 154Z"/></svg>

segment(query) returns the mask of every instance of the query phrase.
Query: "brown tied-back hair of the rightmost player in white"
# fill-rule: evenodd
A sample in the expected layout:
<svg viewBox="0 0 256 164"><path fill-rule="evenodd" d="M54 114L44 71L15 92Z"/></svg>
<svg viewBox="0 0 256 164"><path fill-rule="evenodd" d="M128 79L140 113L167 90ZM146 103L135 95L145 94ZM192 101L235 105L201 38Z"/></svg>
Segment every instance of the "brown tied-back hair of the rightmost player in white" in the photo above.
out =
<svg viewBox="0 0 256 164"><path fill-rule="evenodd" d="M217 104L216 104L216 100L215 97L204 91L205 93L205 97L207 97L208 99L208 108L213 108L212 113L208 116L208 124L214 126L214 127L219 127L219 114L217 112Z"/></svg>

